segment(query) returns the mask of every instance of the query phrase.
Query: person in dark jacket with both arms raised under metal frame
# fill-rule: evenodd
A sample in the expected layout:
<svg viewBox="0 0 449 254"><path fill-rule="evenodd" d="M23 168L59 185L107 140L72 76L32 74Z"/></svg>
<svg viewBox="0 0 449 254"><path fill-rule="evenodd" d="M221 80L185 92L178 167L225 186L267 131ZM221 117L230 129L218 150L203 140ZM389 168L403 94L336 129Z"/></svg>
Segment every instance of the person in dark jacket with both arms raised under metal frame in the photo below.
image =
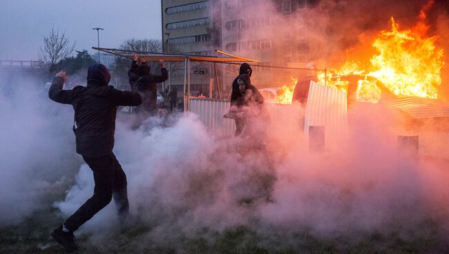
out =
<svg viewBox="0 0 449 254"><path fill-rule="evenodd" d="M160 66L161 75L152 75L151 67L146 62L140 63L140 57L135 57L128 70L131 90L139 92L143 99L142 105L136 108L137 113L144 117L157 113L157 83L164 82L169 78L164 61L160 61Z"/></svg>

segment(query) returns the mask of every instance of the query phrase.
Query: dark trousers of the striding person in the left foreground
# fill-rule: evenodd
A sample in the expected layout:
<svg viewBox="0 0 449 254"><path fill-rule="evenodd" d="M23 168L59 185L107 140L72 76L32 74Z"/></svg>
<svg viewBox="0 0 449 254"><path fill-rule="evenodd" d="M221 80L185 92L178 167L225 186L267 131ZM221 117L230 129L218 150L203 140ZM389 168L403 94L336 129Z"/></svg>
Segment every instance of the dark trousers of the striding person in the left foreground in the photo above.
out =
<svg viewBox="0 0 449 254"><path fill-rule="evenodd" d="M95 188L90 197L72 216L68 217L64 226L70 231L76 231L95 213L102 210L114 197L115 206L121 218L128 215L128 195L126 193L126 175L115 155L100 157L83 156L84 161L93 171Z"/></svg>

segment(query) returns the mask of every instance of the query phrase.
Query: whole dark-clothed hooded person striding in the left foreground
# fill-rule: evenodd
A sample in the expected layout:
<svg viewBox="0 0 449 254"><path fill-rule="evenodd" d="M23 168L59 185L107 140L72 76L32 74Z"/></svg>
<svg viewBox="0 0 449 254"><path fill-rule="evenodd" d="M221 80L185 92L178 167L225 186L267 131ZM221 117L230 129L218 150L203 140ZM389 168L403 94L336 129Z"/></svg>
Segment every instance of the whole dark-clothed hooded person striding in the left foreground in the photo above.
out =
<svg viewBox="0 0 449 254"><path fill-rule="evenodd" d="M58 72L48 90L53 101L73 106L77 153L93 171L95 181L93 196L52 232L52 237L70 251L75 249L73 232L109 204L112 197L120 217L128 215L126 175L113 153L115 115L117 106L140 105L142 97L138 92L108 86L110 79L104 65L94 64L88 68L86 87L63 90L66 72Z"/></svg>

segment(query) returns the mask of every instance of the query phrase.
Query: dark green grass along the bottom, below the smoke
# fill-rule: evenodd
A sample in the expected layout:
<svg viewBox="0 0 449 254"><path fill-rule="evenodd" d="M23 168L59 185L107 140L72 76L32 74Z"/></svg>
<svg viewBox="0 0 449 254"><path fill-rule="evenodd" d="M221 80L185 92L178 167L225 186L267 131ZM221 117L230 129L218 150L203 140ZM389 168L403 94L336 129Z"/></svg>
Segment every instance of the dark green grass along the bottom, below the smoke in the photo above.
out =
<svg viewBox="0 0 449 254"><path fill-rule="evenodd" d="M64 193L53 195L60 199ZM50 239L50 232L63 218L56 208L48 206L16 226L0 228L0 253L65 253ZM357 237L321 238L309 232L256 231L248 226L235 226L225 231L198 228L195 235L176 235L170 240L153 239L153 228L142 225L124 232L111 232L97 237L77 237L75 253L227 253L227 254L411 254L449 253L448 244L441 242L439 225L426 221L408 232L379 232ZM42 248L44 246L44 248Z"/></svg>

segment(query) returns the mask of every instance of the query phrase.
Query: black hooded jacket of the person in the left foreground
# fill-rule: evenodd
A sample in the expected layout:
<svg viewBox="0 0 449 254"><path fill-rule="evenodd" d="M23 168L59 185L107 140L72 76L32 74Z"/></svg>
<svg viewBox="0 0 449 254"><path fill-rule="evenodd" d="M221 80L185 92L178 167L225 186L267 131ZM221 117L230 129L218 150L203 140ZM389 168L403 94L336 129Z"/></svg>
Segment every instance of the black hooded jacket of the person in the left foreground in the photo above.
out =
<svg viewBox="0 0 449 254"><path fill-rule="evenodd" d="M138 92L107 86L110 77L107 75L106 67L95 64L88 70L86 87L75 86L73 90L62 90L64 80L55 77L48 90L50 99L61 104L71 104L75 110L73 130L77 153L80 155L110 155L114 146L117 106L137 106L142 103Z"/></svg>

